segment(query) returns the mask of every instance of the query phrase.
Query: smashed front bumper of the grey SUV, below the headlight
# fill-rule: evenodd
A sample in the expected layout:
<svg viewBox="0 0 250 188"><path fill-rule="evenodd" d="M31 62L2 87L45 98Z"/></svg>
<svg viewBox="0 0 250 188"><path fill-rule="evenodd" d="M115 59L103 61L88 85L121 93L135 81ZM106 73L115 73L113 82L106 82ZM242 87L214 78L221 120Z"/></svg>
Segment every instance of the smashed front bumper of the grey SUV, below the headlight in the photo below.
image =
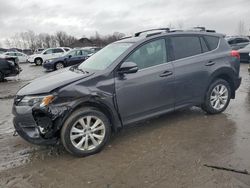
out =
<svg viewBox="0 0 250 188"><path fill-rule="evenodd" d="M67 105L13 105L13 124L16 132L26 141L38 145L56 144L59 130L71 108Z"/></svg>

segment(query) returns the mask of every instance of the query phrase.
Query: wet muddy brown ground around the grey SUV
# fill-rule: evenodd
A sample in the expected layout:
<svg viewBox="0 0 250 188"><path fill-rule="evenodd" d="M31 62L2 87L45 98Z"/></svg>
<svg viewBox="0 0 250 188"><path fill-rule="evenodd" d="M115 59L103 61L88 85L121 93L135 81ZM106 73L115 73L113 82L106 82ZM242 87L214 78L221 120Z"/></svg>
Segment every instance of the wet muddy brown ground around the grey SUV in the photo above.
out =
<svg viewBox="0 0 250 188"><path fill-rule="evenodd" d="M224 113L207 115L193 107L166 114L123 129L101 153L86 158L72 157L60 145L34 146L12 136L13 96L48 74L42 67L21 66L19 77L0 83L1 188L250 187L247 64L241 64L242 84Z"/></svg>

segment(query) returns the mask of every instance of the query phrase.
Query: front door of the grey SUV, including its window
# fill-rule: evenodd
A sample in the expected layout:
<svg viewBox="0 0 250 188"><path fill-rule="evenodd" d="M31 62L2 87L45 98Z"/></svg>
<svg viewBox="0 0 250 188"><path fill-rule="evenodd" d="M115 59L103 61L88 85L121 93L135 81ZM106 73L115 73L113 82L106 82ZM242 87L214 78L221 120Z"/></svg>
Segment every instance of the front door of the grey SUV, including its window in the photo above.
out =
<svg viewBox="0 0 250 188"><path fill-rule="evenodd" d="M138 47L124 62L134 62L139 71L117 75L115 91L124 124L174 109L174 70L168 62L165 39Z"/></svg>

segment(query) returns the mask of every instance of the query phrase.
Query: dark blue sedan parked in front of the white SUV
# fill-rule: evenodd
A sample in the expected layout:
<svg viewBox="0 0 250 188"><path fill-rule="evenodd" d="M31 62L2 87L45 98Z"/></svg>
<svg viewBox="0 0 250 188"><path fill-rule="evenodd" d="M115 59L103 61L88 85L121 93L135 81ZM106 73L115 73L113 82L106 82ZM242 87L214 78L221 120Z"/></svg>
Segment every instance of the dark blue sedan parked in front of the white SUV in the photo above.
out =
<svg viewBox="0 0 250 188"><path fill-rule="evenodd" d="M93 51L85 48L73 49L67 52L63 57L46 60L43 63L43 67L47 70L62 69L85 61L89 57L89 54L93 54Z"/></svg>

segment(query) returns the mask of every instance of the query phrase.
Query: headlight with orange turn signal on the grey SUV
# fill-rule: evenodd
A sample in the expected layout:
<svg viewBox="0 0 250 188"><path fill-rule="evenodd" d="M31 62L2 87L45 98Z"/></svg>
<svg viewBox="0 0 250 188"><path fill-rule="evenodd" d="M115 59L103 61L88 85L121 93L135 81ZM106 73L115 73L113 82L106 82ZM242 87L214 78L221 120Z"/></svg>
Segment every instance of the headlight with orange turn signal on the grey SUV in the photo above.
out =
<svg viewBox="0 0 250 188"><path fill-rule="evenodd" d="M25 96L19 103L18 106L34 106L40 103L40 107L45 107L50 104L54 99L53 95L46 96Z"/></svg>

